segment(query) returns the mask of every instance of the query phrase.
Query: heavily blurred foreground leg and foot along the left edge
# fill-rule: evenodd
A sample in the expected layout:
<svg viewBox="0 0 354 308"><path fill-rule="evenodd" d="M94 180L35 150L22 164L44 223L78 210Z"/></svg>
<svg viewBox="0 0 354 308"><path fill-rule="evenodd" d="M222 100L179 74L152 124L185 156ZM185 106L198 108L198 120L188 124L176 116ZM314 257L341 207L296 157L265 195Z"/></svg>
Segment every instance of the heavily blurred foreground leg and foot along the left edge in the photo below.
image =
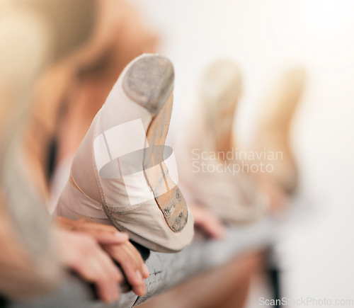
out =
<svg viewBox="0 0 354 308"><path fill-rule="evenodd" d="M77 10L81 11L80 18L75 16ZM73 1L69 11L58 1L1 4L0 293L8 298L49 292L61 281L42 190L36 190L39 183L33 185L33 173L24 163L21 147L38 76L52 61L79 47L91 33L93 1ZM60 35L63 21L72 27L70 35Z"/></svg>

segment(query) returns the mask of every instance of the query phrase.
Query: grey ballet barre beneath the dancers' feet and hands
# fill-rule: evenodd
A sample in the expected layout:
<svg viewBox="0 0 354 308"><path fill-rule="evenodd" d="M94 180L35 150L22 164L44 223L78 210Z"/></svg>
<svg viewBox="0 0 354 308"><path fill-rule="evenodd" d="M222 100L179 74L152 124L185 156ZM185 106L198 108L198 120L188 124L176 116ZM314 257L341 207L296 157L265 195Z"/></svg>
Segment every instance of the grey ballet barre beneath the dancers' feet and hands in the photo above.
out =
<svg viewBox="0 0 354 308"><path fill-rule="evenodd" d="M130 308L142 304L154 295L176 287L189 278L222 266L232 258L258 249L266 249L275 241L277 223L273 218L255 224L229 227L222 240L205 239L200 234L192 244L178 253L158 253L139 249L150 271L147 278L147 293L138 297L132 291L125 292L118 302L104 304L94 299L92 287L77 277L71 276L55 295L33 302L8 303L11 308L44 307L89 307L89 308Z"/></svg>

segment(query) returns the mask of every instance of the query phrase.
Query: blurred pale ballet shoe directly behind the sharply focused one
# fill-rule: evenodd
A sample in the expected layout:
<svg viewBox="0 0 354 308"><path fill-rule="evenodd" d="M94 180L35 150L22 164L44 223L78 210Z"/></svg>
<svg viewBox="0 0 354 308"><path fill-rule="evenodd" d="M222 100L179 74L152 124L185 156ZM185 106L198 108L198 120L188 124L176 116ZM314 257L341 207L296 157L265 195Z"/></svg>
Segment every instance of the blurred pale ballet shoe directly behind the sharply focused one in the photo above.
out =
<svg viewBox="0 0 354 308"><path fill-rule="evenodd" d="M173 144L188 202L207 207L229 224L253 222L268 206L240 171L235 155L233 127L241 93L241 72L234 62L211 64L200 78L190 119Z"/></svg>

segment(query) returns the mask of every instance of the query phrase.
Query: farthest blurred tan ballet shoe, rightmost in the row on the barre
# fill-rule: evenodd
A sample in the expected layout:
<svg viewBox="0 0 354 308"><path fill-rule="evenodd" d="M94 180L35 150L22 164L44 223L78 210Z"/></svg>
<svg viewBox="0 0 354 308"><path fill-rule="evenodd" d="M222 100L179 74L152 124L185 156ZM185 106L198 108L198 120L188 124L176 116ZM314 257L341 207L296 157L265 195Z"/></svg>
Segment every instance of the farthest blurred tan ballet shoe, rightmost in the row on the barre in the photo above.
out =
<svg viewBox="0 0 354 308"><path fill-rule="evenodd" d="M266 154L261 155L263 164L273 166L273 171L268 173L272 181L288 195L295 193L298 182L297 164L290 146L290 129L305 84L306 73L302 68L290 69L281 76L263 104L251 141L254 151Z"/></svg>

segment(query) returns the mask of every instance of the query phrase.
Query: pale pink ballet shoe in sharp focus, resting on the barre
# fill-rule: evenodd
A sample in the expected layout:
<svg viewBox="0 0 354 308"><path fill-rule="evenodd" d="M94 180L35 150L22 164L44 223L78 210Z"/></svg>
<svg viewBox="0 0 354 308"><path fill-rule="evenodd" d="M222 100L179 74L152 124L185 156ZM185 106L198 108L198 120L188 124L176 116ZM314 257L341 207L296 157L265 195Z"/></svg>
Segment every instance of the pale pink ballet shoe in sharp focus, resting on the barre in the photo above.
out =
<svg viewBox="0 0 354 308"><path fill-rule="evenodd" d="M173 81L166 57L142 55L127 65L76 152L57 215L113 224L154 251L190 243L193 217L165 146Z"/></svg>

